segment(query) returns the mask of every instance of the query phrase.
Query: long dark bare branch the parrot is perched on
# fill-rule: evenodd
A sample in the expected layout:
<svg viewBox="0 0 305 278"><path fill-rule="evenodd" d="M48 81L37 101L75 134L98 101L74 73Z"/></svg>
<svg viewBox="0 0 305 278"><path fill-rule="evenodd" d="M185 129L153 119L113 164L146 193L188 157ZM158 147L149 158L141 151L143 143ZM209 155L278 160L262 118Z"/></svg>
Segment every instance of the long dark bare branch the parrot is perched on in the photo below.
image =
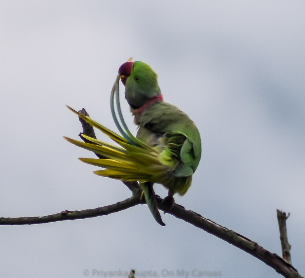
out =
<svg viewBox="0 0 305 278"><path fill-rule="evenodd" d="M84 126L83 126L84 128ZM85 130L85 129L84 129ZM92 135L92 131L89 131ZM94 135L94 131L93 131ZM124 184L132 191L132 197L127 198L116 204L109 206L104 206L96 209L85 209L80 211L62 211L61 213L56 213L52 215L42 216L42 217L1 217L0 225L23 225L23 224L42 224L55 221L63 220L74 220L74 219L84 219L89 217L97 217L102 215L108 215L110 213L118 212L129 207L143 203L141 201L141 190L137 183L124 182ZM268 250L264 249L262 246L258 245L256 242L225 228L209 219L202 217L200 214L195 213L191 210L186 210L183 206L175 204L173 209L169 212L166 211L166 207L162 205L162 198L156 196L156 201L160 210L169 213L179 219L182 219L212 235L217 236L220 239L238 247L241 250L253 255L259 260L263 261L265 264L272 267L278 273L282 274L287 278L304 278L300 276L297 270L283 258L277 254L273 254ZM287 219L287 217L286 217ZM287 241L288 242L288 241ZM289 249L290 250L290 249Z"/></svg>

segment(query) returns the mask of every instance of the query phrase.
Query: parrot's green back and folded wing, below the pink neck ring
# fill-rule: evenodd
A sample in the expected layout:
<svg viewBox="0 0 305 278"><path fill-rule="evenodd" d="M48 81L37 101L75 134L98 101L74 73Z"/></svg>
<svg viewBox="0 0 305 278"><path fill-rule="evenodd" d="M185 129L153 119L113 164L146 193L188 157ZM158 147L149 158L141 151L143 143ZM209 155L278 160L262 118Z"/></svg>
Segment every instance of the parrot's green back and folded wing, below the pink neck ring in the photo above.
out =
<svg viewBox="0 0 305 278"><path fill-rule="evenodd" d="M173 193L184 195L201 157L196 125L178 107L163 101L153 103L134 116L139 126L137 138L158 149L165 161L171 161L173 171L169 177L175 178L163 185Z"/></svg>

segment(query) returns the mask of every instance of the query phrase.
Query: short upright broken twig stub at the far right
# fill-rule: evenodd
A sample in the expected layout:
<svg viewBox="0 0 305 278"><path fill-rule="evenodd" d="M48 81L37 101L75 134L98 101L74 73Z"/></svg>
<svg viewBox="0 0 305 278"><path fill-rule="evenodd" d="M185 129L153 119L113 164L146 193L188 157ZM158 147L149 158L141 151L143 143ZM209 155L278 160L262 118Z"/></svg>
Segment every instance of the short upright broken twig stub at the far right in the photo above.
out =
<svg viewBox="0 0 305 278"><path fill-rule="evenodd" d="M285 212L282 212L277 209L276 214L278 217L278 228L280 230L280 240L282 245L283 258L285 261L291 264L291 255L290 255L291 245L288 242L287 226L286 226L286 220L290 216L290 213L288 213L288 215L286 216Z"/></svg>

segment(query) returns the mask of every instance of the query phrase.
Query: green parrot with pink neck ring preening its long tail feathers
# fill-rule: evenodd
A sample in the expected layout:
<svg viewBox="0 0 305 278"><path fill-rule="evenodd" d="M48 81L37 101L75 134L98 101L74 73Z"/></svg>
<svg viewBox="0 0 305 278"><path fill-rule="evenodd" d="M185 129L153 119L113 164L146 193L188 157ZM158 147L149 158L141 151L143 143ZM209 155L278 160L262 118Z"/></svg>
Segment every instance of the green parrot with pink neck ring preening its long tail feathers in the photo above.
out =
<svg viewBox="0 0 305 278"><path fill-rule="evenodd" d="M120 110L120 80L125 86L125 98L138 125L136 137L128 130ZM115 96L121 124L114 109ZM80 158L81 161L105 168L95 171L96 174L123 181L138 181L153 217L164 226L152 185L160 183L168 189L168 196L163 202L171 203L170 206L174 204L175 193L182 196L188 191L201 157L198 129L178 107L163 101L156 73L141 61L127 61L120 66L110 104L113 119L122 136L71 110L99 128L120 147L86 135L82 136L92 143L66 139L105 157Z"/></svg>

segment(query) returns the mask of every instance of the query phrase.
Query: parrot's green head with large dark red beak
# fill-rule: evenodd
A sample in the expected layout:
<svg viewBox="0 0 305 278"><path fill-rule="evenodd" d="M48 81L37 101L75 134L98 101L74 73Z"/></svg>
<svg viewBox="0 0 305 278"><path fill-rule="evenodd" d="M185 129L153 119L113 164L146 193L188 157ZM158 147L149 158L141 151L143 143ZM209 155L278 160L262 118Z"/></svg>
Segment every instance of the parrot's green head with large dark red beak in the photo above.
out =
<svg viewBox="0 0 305 278"><path fill-rule="evenodd" d="M125 86L125 98L132 109L161 95L157 74L146 63L127 61L120 66L119 75Z"/></svg>

